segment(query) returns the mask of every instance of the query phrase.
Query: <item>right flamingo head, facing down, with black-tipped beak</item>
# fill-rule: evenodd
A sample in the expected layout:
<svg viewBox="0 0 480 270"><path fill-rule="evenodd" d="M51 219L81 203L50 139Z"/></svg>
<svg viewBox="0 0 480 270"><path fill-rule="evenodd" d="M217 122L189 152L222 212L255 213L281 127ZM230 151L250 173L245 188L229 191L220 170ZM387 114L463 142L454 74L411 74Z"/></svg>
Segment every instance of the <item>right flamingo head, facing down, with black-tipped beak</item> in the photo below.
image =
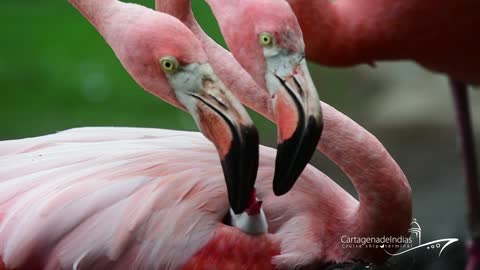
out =
<svg viewBox="0 0 480 270"><path fill-rule="evenodd" d="M279 142L273 190L285 194L309 162L323 128L300 26L286 1L210 2L232 54L272 96Z"/></svg>

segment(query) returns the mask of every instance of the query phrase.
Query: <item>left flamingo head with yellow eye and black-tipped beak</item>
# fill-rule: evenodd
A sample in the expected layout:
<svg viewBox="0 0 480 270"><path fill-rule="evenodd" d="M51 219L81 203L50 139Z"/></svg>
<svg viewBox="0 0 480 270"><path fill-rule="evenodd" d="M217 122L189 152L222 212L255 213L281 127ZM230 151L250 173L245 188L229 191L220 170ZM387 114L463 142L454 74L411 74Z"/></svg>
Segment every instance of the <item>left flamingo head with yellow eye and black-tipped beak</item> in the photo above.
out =
<svg viewBox="0 0 480 270"><path fill-rule="evenodd" d="M218 150L231 208L243 212L258 169L258 134L250 116L179 20L152 11L123 27L121 42L109 42L122 64L147 91L193 116Z"/></svg>

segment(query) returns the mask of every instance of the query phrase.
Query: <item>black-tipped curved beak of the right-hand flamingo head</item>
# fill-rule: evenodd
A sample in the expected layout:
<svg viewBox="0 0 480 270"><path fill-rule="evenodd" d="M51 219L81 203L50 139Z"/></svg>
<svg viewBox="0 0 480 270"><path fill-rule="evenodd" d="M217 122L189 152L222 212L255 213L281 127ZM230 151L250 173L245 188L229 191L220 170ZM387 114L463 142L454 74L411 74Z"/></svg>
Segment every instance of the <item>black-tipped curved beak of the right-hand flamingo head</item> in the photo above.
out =
<svg viewBox="0 0 480 270"><path fill-rule="evenodd" d="M277 58L267 62L266 78L278 126L273 191L280 196L293 187L310 161L320 140L323 121L317 90L303 55Z"/></svg>

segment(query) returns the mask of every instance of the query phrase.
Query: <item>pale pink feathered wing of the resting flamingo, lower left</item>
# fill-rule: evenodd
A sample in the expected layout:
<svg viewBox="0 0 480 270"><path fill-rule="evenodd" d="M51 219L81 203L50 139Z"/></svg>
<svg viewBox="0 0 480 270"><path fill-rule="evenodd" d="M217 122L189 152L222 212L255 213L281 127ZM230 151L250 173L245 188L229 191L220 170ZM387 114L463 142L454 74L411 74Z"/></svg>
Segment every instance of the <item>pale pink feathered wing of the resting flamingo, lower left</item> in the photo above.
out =
<svg viewBox="0 0 480 270"><path fill-rule="evenodd" d="M228 210L218 161L194 132L82 128L1 142L2 261L179 268Z"/></svg>

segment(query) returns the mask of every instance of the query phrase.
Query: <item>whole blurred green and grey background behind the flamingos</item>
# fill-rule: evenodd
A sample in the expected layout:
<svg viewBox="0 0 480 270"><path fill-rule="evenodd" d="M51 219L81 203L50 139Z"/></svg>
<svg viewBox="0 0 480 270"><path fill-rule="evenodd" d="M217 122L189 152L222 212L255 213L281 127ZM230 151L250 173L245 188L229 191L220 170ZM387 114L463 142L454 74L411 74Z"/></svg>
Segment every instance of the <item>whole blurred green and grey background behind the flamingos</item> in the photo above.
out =
<svg viewBox="0 0 480 270"><path fill-rule="evenodd" d="M149 7L153 2L137 1ZM204 30L224 45L208 6L200 0L192 6ZM197 130L190 115L136 85L67 1L3 1L0 7L1 140L82 126ZM310 69L321 99L375 134L400 164L412 186L414 216L425 240L465 238L463 175L446 79L405 62L379 63L375 69L311 64ZM479 92L471 95L477 138ZM262 143L274 146L275 127L251 115ZM322 154L312 163L355 194ZM461 269L462 245L440 259L406 260L415 261L411 269Z"/></svg>

